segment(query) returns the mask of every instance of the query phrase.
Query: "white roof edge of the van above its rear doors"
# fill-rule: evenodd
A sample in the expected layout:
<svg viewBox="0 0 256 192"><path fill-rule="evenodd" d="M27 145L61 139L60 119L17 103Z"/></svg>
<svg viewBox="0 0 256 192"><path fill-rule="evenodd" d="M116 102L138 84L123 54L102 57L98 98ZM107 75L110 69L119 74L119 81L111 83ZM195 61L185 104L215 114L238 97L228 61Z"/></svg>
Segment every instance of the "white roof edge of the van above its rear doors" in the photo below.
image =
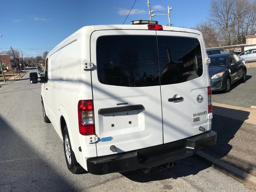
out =
<svg viewBox="0 0 256 192"><path fill-rule="evenodd" d="M90 25L90 26L84 26L68 36L66 39L61 41L56 47L54 47L49 53L55 52L55 50L62 45L64 42L66 42L71 37L81 33L84 31L84 33L90 35L93 31L98 30L120 30L120 29L135 29L135 30L148 30L147 24L144 25ZM169 26L163 26L164 31L178 31L178 32L186 32L186 33L195 33L200 35L200 31L194 30L194 29L187 29L187 28L181 28L181 27L169 27ZM48 56L47 55L47 56Z"/></svg>

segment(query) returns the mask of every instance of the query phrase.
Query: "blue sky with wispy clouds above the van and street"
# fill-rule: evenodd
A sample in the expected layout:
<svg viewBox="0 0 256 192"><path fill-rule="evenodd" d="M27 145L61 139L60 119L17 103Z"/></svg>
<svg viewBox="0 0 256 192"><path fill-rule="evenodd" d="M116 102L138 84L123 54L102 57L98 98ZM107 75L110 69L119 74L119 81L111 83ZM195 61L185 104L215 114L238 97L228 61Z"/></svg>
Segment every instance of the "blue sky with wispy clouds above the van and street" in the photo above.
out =
<svg viewBox="0 0 256 192"><path fill-rule="evenodd" d="M137 0L124 24L149 20L146 2ZM83 26L123 24L133 3L134 0L1 1L0 48L12 46L22 50L24 56L42 55ZM187 28L206 20L209 3L210 0L150 1L151 10L167 12L167 5L172 7L171 23ZM156 15L152 20L168 24L167 15Z"/></svg>

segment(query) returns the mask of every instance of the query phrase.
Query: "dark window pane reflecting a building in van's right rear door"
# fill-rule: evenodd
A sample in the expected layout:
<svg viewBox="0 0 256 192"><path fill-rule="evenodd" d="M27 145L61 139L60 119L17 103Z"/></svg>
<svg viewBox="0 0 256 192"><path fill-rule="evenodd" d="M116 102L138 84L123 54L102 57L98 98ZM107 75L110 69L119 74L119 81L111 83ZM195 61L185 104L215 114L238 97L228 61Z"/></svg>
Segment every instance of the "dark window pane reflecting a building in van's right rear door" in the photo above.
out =
<svg viewBox="0 0 256 192"><path fill-rule="evenodd" d="M202 75L202 54L198 39L158 36L157 44L161 85L182 83Z"/></svg>

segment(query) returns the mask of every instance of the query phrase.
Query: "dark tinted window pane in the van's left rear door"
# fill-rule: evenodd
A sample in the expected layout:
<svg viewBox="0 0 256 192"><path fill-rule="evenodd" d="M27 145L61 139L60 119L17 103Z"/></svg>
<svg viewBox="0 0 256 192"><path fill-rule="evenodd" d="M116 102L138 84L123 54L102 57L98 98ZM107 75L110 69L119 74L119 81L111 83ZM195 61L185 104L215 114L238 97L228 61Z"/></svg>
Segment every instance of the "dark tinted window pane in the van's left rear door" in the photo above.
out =
<svg viewBox="0 0 256 192"><path fill-rule="evenodd" d="M97 40L101 83L124 87L159 86L156 36L102 36Z"/></svg>

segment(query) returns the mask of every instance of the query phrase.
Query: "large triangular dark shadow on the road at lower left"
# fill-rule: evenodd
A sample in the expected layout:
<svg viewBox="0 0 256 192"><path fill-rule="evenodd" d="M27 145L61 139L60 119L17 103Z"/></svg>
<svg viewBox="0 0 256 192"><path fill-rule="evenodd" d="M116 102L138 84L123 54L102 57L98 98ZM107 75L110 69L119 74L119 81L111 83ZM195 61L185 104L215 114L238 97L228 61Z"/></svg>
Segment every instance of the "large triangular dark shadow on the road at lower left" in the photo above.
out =
<svg viewBox="0 0 256 192"><path fill-rule="evenodd" d="M0 191L67 191L73 188L0 116Z"/></svg>

